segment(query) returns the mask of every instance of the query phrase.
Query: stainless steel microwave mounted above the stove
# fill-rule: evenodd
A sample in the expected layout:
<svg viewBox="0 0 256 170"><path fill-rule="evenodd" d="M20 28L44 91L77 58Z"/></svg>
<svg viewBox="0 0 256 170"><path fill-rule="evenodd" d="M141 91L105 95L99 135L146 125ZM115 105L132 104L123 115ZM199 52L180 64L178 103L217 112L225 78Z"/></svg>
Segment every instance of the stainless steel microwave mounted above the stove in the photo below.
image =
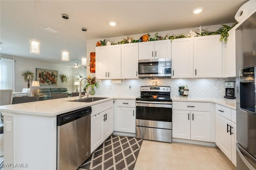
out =
<svg viewBox="0 0 256 170"><path fill-rule="evenodd" d="M172 60L170 58L143 59L138 61L139 78L172 77Z"/></svg>

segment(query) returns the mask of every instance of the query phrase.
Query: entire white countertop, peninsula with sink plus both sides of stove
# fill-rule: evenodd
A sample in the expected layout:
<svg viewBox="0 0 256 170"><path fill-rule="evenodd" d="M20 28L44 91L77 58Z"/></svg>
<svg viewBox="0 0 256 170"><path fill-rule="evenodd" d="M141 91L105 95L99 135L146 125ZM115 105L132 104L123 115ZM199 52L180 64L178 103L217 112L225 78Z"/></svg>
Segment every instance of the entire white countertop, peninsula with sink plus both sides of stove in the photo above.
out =
<svg viewBox="0 0 256 170"><path fill-rule="evenodd" d="M96 105L98 103L102 103L105 101L113 100L113 99L128 99L135 100L136 97L125 97L125 96L102 96L102 95L94 95L89 97L108 97L107 99L102 99L94 102L72 102L70 100L78 99L76 97L68 97L54 100L44 100L37 102L29 102L29 103L20 103L15 105L4 105L0 106L1 112L8 113L23 113L28 115L42 115L42 116L56 116L62 113L67 113L69 111L74 111L76 109L81 109L84 107ZM138 96L137 96L138 97ZM85 96L82 97L86 98ZM225 107L229 107L231 109L236 109L236 100L234 99L214 99L214 98L184 98L184 97L172 97L172 101L187 101L187 102L211 102L219 105L223 105Z"/></svg>

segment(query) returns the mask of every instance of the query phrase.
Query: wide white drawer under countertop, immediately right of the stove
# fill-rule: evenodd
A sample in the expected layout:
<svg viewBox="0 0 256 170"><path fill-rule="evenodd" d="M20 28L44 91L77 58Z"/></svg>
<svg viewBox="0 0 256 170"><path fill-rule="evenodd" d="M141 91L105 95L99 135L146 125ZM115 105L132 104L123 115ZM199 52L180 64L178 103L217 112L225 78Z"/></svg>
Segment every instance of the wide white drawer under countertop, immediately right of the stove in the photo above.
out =
<svg viewBox="0 0 256 170"><path fill-rule="evenodd" d="M186 111L210 111L210 103L173 101L172 109Z"/></svg>

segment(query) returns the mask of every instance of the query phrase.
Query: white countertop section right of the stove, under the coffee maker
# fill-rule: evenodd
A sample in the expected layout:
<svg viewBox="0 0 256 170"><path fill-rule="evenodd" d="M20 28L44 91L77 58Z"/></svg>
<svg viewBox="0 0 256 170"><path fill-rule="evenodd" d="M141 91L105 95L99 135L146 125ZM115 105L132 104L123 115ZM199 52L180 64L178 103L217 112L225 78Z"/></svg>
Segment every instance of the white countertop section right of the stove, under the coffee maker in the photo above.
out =
<svg viewBox="0 0 256 170"><path fill-rule="evenodd" d="M236 99L172 97L172 101L210 102L236 110Z"/></svg>

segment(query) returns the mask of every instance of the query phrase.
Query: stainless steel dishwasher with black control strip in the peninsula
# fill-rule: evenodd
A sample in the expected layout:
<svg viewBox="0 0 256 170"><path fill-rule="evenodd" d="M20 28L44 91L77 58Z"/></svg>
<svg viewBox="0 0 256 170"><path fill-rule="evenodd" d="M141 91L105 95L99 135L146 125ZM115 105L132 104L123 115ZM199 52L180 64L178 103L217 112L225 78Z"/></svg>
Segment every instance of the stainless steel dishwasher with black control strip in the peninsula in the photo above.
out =
<svg viewBox="0 0 256 170"><path fill-rule="evenodd" d="M90 157L91 113L86 107L57 116L57 170L76 170Z"/></svg>

